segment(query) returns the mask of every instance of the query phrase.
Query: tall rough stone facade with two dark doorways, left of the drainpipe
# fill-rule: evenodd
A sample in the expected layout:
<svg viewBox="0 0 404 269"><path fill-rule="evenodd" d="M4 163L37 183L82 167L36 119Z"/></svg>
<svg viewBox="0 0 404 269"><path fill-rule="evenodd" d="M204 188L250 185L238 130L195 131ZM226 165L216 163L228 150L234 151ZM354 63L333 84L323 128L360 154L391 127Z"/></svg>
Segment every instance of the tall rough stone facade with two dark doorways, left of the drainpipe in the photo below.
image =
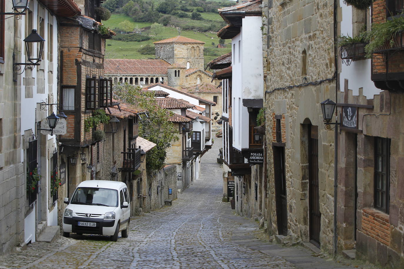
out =
<svg viewBox="0 0 404 269"><path fill-rule="evenodd" d="M320 102L335 99L335 81L274 90L302 81L330 79L334 74L333 6L330 1L263 0L264 108L266 117L269 233L278 234L274 185L274 152L285 152L289 242L309 241L307 126L318 126L318 177L321 212L320 246L332 251L333 133L324 130ZM274 144L272 116L284 118L284 141ZM268 139L269 138L269 139Z"/></svg>

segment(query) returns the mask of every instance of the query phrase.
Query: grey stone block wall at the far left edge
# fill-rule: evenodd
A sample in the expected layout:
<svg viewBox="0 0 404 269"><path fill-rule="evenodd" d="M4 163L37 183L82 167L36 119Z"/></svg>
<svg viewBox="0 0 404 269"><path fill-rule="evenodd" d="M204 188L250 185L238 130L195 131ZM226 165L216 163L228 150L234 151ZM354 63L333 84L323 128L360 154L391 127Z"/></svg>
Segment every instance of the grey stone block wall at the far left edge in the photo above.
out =
<svg viewBox="0 0 404 269"><path fill-rule="evenodd" d="M12 10L6 0L4 10ZM21 84L13 82L13 50L21 44L21 20L4 23L4 63L0 63L0 255L24 241L25 172L21 160ZM15 53L18 59L21 47Z"/></svg>

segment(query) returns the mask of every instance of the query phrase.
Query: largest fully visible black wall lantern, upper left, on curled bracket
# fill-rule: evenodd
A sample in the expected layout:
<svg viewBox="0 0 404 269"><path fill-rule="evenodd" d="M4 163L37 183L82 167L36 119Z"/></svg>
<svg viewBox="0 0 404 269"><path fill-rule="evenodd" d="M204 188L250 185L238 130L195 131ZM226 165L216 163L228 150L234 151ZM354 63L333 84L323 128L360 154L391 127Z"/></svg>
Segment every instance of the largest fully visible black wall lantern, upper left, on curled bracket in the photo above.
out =
<svg viewBox="0 0 404 269"><path fill-rule="evenodd" d="M38 35L36 32L36 29L32 29L32 33L30 33L25 39L25 50L27 52L27 57L28 57L28 63L14 63L14 72L17 73L17 71L21 70L21 65L40 65L40 61L42 60L42 52L44 50L44 45L45 45L45 40L42 38L42 36ZM34 46L33 44L36 43L37 47L39 48L38 54L36 55L37 57L34 58ZM13 55L14 58L15 55ZM22 74L24 70L21 73L17 74Z"/></svg>

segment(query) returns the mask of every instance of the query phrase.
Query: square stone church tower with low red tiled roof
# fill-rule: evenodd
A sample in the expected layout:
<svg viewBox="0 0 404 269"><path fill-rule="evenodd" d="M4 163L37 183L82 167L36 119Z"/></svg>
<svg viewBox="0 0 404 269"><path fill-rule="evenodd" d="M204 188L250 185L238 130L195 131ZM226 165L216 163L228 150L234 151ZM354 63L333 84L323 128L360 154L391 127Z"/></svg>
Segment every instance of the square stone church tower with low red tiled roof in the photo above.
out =
<svg viewBox="0 0 404 269"><path fill-rule="evenodd" d="M205 42L176 36L154 42L156 59L164 59L171 64L179 64L186 69L204 69L203 45Z"/></svg>

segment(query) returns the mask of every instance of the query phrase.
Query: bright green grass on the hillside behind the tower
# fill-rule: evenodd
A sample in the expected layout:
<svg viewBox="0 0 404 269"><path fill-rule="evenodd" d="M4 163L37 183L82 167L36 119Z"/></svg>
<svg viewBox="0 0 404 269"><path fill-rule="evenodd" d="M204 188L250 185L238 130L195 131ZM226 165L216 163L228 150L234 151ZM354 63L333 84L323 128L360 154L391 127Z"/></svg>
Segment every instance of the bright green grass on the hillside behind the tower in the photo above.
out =
<svg viewBox="0 0 404 269"><path fill-rule="evenodd" d="M213 13L202 13L202 16L204 14L210 15ZM217 16L219 16L219 15L217 15ZM188 19L188 18L185 18L185 19ZM103 23L107 27L113 29L113 28L117 27L121 21L124 21L124 20L133 22L134 25L138 25L140 28L151 25L151 23L135 22L135 21L133 21L133 19L131 17L128 17L126 15L116 15L116 14L112 15L108 21L104 21ZM189 20L191 20L191 19L189 19ZM146 34L146 33L144 33L144 34ZM119 41L119 40L114 40L114 39L108 39L107 46L106 46L106 52L105 52L106 57L121 58L121 59L154 58L154 53L153 54L150 53L148 55L143 55L143 54L140 54L139 52L137 52L137 50L147 44L150 44L151 46L153 46L153 42L155 42L155 41L166 39L166 38L172 38L177 35L178 35L177 29L175 29L173 27L164 27L163 32L160 33L157 37L152 36L151 40L147 40L147 41L143 41L143 42L124 42L124 41ZM210 32L200 33L200 32L182 30L181 35L185 36L187 38L200 40L200 41L203 41L206 43L204 45L204 47L206 48L205 65L206 65L206 63L210 62L214 58L231 51L231 46L228 46L228 48L215 48L214 46L212 46L212 42L215 42L215 44L219 43L219 38L217 37L216 33L210 33ZM208 55L206 55L206 54L208 54Z"/></svg>

